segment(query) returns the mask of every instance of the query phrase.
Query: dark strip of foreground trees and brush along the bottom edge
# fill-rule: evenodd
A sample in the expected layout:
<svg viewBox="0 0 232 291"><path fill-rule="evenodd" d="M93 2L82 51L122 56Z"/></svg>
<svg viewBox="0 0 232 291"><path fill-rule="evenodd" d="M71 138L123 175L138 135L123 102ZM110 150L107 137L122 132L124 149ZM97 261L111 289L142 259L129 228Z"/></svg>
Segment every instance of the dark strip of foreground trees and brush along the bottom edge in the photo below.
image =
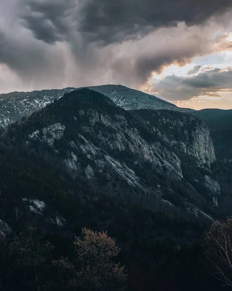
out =
<svg viewBox="0 0 232 291"><path fill-rule="evenodd" d="M0 233L0 290L230 290L231 235L228 219L211 226L204 247L164 241L120 253L106 232L83 228L69 240L30 225L17 238Z"/></svg>

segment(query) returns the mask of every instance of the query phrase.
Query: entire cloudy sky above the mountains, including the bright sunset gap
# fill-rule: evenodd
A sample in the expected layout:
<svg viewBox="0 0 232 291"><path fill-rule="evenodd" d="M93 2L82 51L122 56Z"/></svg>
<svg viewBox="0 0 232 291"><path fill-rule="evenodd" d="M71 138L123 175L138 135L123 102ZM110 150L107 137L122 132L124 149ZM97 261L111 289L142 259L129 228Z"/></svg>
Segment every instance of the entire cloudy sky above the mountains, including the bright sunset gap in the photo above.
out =
<svg viewBox="0 0 232 291"><path fill-rule="evenodd" d="M108 83L232 109L232 0L0 0L0 93Z"/></svg>

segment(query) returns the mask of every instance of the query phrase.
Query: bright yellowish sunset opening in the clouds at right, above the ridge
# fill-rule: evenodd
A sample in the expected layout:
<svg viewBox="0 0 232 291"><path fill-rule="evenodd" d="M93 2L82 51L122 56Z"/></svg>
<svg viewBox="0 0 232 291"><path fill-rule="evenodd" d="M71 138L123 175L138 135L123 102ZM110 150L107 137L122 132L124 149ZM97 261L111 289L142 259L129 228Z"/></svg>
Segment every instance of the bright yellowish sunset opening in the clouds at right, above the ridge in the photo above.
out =
<svg viewBox="0 0 232 291"><path fill-rule="evenodd" d="M221 44L215 44L219 51L183 66L165 67L153 74L143 91L180 107L232 109L232 33L220 39Z"/></svg>

